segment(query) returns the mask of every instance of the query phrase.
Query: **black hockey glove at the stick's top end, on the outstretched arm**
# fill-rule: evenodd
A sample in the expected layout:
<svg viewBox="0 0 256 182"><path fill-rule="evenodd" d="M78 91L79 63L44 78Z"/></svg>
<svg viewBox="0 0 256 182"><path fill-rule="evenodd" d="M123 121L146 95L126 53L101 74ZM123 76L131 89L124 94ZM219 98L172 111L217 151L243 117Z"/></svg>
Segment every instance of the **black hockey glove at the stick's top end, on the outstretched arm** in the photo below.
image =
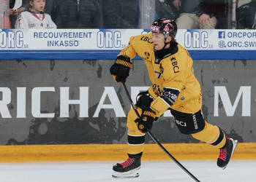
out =
<svg viewBox="0 0 256 182"><path fill-rule="evenodd" d="M113 66L110 67L110 74L116 82L126 82L132 63L129 58L119 55Z"/></svg>

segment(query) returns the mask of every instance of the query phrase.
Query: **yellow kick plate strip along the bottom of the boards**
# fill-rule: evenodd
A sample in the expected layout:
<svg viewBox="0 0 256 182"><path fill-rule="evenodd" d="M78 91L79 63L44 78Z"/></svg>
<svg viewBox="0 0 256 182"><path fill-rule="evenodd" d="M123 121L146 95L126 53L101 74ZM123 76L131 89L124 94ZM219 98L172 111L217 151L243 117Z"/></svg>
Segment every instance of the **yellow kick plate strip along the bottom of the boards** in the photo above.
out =
<svg viewBox="0 0 256 182"><path fill-rule="evenodd" d="M178 160L217 159L219 149L206 143L165 143ZM0 162L120 161L125 144L0 146ZM238 143L233 159L256 159L256 143ZM170 160L157 144L145 144L143 160Z"/></svg>

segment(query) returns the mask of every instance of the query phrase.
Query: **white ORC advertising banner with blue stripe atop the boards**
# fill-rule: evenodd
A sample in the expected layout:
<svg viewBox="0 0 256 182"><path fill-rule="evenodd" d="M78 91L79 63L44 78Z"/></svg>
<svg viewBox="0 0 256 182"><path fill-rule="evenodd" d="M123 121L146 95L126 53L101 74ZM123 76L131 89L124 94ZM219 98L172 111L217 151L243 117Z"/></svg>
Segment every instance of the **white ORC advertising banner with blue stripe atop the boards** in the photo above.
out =
<svg viewBox="0 0 256 182"><path fill-rule="evenodd" d="M116 59L131 36L147 33L146 29L0 29L0 59ZM141 41L151 44L145 37ZM255 30L178 29L176 34L194 60L254 60L255 38Z"/></svg>

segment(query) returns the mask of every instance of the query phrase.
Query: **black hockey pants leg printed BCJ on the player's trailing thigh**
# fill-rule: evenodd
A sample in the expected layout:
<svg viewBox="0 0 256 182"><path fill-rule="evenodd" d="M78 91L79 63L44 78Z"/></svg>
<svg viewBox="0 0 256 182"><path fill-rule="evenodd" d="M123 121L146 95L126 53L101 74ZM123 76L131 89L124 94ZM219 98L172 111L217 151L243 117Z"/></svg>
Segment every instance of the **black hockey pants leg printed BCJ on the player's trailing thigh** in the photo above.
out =
<svg viewBox="0 0 256 182"><path fill-rule="evenodd" d="M195 114L181 113L173 109L171 109L170 112L176 120L178 130L183 134L189 135L200 132L206 125L201 110Z"/></svg>

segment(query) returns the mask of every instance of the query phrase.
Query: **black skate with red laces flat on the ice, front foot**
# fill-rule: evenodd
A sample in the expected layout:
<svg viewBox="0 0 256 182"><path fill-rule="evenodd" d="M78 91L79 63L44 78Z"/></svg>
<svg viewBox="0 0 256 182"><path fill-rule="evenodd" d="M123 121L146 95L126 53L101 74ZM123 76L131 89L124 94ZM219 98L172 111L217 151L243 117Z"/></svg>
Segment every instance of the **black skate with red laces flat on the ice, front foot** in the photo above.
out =
<svg viewBox="0 0 256 182"><path fill-rule="evenodd" d="M129 157L125 162L113 166L113 178L137 178L140 170L140 157Z"/></svg>

